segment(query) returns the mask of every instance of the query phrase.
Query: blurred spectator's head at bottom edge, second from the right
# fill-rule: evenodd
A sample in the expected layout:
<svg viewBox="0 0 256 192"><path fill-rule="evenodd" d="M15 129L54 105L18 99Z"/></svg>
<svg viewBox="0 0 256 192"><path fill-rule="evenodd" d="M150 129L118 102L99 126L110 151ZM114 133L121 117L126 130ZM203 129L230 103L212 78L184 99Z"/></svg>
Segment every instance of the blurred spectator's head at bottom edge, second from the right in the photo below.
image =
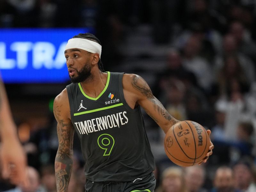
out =
<svg viewBox="0 0 256 192"><path fill-rule="evenodd" d="M233 171L227 166L221 166L216 170L213 186L211 192L242 192L235 189Z"/></svg>

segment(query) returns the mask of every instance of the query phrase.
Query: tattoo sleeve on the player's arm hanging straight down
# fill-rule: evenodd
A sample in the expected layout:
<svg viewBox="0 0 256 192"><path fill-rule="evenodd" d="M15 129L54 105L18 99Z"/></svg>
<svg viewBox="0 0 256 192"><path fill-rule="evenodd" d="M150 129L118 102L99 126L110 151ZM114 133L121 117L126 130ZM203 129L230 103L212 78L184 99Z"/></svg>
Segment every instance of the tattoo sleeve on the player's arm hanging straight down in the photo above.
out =
<svg viewBox="0 0 256 192"><path fill-rule="evenodd" d="M60 107L54 103L54 116L58 122L59 148L55 157L55 177L58 192L66 192L72 172L74 127L60 118Z"/></svg>

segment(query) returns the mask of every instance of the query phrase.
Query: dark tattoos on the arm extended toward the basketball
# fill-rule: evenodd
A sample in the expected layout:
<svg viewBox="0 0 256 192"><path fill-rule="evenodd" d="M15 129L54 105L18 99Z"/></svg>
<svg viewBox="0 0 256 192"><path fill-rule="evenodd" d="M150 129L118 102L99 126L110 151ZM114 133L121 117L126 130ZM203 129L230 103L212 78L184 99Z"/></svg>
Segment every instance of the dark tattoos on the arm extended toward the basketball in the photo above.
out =
<svg viewBox="0 0 256 192"><path fill-rule="evenodd" d="M139 85L138 84L138 80L141 79L143 81L143 85ZM156 99L156 97L153 95L152 91L150 90L148 84L146 83L146 81L140 77L135 75L132 78L132 86L138 90L139 92L141 92L143 95L145 95L147 97L147 99L149 101L151 101L154 104L154 108L155 110L158 112L159 115L163 116L164 119L171 121L173 123L178 122L176 119L174 119L169 113L168 111L164 108L164 106L162 105L162 103ZM158 123L158 120L156 119L156 117L154 117L149 111L148 109L145 109L146 113L156 121L156 123Z"/></svg>

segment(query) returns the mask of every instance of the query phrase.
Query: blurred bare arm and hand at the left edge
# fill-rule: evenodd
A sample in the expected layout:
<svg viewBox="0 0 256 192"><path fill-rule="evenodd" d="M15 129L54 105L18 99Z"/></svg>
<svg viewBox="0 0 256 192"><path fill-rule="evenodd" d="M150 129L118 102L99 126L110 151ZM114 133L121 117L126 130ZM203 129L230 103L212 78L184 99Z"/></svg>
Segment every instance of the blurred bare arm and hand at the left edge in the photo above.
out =
<svg viewBox="0 0 256 192"><path fill-rule="evenodd" d="M28 185L26 156L17 135L12 119L4 84L0 78L0 162L3 178L10 178L14 184Z"/></svg>

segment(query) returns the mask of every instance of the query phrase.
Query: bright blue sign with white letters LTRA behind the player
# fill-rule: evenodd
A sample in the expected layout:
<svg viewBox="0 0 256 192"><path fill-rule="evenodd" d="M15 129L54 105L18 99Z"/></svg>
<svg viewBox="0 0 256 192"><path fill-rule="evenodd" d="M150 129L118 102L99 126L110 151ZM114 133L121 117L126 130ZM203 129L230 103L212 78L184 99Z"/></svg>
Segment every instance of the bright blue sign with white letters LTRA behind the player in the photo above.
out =
<svg viewBox="0 0 256 192"><path fill-rule="evenodd" d="M68 39L86 28L0 29L0 71L4 83L63 83Z"/></svg>

